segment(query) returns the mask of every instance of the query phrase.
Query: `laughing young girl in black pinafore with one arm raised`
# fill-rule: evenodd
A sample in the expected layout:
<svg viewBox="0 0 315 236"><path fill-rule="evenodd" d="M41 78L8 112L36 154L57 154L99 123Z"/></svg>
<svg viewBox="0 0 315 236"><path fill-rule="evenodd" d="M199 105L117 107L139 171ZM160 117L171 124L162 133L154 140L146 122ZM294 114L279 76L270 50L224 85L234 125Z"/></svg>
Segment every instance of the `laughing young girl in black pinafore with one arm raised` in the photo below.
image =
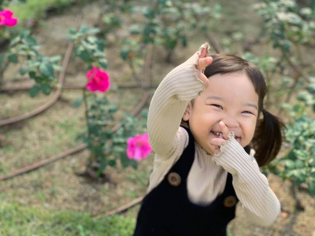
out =
<svg viewBox="0 0 315 236"><path fill-rule="evenodd" d="M134 236L226 235L238 201L259 225L280 211L259 170L278 154L284 126L263 108L264 78L249 61L209 57L208 48L170 71L153 95L154 167Z"/></svg>

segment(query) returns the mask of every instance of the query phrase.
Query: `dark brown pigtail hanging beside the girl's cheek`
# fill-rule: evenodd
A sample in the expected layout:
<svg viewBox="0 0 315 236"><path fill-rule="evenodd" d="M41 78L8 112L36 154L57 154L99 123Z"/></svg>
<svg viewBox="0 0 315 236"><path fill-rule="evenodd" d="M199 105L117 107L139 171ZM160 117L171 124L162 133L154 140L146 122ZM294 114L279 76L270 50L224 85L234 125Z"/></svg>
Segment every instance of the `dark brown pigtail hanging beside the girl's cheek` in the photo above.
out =
<svg viewBox="0 0 315 236"><path fill-rule="evenodd" d="M259 166L264 166L273 160L279 153L284 139L283 128L286 128L277 116L272 115L264 108L264 118L257 121L251 146L255 149L255 159Z"/></svg>

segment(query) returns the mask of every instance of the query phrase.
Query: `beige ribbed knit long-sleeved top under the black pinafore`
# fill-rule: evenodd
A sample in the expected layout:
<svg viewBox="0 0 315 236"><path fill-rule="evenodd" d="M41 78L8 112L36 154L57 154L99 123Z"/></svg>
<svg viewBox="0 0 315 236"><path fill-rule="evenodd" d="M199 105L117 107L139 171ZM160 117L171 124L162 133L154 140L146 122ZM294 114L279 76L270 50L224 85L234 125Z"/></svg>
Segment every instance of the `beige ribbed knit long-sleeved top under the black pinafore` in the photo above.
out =
<svg viewBox="0 0 315 236"><path fill-rule="evenodd" d="M188 102L205 90L196 65L206 46L203 44L189 59L171 70L152 97L147 130L155 155L147 193L163 180L188 145L188 133L180 127L180 122ZM215 155L209 155L195 142L194 162L187 179L188 197L198 205L211 203L223 192L227 172L230 172L247 218L259 225L270 225L280 212L280 203L259 170L254 149L248 155L233 132L228 137L220 153Z"/></svg>

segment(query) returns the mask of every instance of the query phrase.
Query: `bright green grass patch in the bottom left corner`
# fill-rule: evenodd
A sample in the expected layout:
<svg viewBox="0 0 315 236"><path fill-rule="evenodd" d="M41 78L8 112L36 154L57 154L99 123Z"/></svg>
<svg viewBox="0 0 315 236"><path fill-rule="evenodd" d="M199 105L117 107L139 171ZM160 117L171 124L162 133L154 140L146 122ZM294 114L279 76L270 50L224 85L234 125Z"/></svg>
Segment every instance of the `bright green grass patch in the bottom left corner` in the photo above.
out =
<svg viewBox="0 0 315 236"><path fill-rule="evenodd" d="M50 211L0 203L0 235L110 235L133 233L135 219L113 215L93 220L88 213Z"/></svg>

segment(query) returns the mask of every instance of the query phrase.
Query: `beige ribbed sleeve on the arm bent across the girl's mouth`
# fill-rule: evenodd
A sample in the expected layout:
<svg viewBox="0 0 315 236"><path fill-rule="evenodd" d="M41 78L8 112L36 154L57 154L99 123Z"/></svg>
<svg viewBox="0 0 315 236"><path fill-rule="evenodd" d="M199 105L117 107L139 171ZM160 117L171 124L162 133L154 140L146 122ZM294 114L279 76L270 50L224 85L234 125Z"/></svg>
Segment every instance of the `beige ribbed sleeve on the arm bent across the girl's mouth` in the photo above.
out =
<svg viewBox="0 0 315 236"><path fill-rule="evenodd" d="M255 158L251 158L234 138L234 133L220 147L213 161L233 176L235 193L245 208L249 220L259 225L270 225L280 212L280 203L269 187Z"/></svg>

